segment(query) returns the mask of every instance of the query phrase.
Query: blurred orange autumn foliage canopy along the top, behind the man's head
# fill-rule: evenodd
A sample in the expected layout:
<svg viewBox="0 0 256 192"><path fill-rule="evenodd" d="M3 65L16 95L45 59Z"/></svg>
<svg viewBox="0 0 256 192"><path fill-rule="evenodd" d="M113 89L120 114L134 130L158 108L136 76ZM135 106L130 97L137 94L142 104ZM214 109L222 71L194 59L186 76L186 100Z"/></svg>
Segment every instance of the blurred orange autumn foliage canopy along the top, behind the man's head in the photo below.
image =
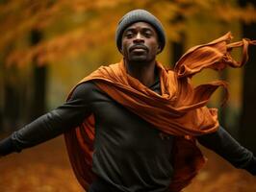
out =
<svg viewBox="0 0 256 192"><path fill-rule="evenodd" d="M186 20L201 12L216 12L213 17L233 22L256 21L256 9L240 8L234 1L220 0L9 0L0 5L0 51L12 45L5 56L8 64L24 65L31 60L38 64L75 57L94 46L114 41L118 19L129 10L146 9L154 12L166 27L169 39L179 40L186 30ZM177 21L182 15L184 20ZM44 37L37 45L29 43L33 29ZM64 30L63 30L64 29ZM25 41L25 42L24 42ZM21 43L22 42L22 43ZM20 45L22 44L22 45Z"/></svg>

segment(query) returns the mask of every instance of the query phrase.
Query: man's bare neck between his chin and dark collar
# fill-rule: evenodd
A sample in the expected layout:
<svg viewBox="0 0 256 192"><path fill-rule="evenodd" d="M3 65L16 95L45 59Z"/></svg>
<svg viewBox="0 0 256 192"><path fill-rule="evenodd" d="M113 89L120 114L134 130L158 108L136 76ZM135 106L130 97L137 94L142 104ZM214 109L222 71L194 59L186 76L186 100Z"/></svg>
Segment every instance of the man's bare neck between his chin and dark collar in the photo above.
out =
<svg viewBox="0 0 256 192"><path fill-rule="evenodd" d="M156 60L148 62L136 62L124 60L127 73L133 78L138 79L141 84L150 86L155 83L156 80Z"/></svg>

